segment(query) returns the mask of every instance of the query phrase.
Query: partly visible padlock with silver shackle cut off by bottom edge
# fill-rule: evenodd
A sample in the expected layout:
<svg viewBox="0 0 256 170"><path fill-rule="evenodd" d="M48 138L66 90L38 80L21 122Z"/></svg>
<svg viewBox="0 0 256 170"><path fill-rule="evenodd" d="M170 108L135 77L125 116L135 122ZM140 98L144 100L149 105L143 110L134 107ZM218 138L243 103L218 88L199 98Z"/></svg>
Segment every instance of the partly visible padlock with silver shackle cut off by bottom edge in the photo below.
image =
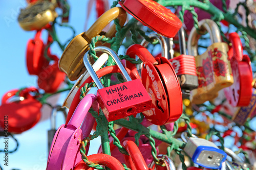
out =
<svg viewBox="0 0 256 170"><path fill-rule="evenodd" d="M156 165L154 162L151 163L150 167L152 170L176 170L175 164L172 159L166 155L158 155L157 158L165 164L165 166Z"/></svg>

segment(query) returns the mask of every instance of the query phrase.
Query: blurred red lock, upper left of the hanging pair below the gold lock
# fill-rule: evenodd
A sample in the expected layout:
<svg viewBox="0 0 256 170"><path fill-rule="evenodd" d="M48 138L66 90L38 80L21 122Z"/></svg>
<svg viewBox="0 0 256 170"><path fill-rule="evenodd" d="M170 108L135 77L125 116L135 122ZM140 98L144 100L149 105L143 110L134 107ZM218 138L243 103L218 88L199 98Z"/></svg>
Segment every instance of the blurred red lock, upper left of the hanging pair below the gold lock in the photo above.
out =
<svg viewBox="0 0 256 170"><path fill-rule="evenodd" d="M44 57L45 44L40 38L41 31L36 32L35 38L30 39L27 43L27 68L30 75L38 75L43 67L49 64Z"/></svg>

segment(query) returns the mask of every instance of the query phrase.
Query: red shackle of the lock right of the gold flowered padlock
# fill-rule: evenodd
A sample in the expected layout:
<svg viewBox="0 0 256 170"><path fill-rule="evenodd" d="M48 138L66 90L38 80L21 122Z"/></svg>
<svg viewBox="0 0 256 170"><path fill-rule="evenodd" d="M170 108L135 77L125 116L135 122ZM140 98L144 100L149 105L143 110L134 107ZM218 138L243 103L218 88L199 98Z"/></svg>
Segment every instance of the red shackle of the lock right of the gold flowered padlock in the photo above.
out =
<svg viewBox="0 0 256 170"><path fill-rule="evenodd" d="M229 34L229 41L232 43L233 48L233 57L236 58L238 61L243 60L243 45L238 33L230 33Z"/></svg>

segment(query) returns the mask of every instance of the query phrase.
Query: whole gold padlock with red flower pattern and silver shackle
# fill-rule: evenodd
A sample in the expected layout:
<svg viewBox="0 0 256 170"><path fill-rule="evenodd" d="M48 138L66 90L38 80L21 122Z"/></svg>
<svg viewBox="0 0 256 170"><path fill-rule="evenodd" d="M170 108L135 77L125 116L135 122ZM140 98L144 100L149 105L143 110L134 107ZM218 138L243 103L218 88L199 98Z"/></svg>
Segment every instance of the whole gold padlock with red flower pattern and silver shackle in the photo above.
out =
<svg viewBox="0 0 256 170"><path fill-rule="evenodd" d="M221 42L217 24L210 19L199 22L199 29L210 34L211 45L206 52L198 55L200 34L194 27L187 42L188 55L195 56L198 76L198 88L191 91L190 101L202 104L218 96L218 91L233 84L232 70L228 60L228 44Z"/></svg>

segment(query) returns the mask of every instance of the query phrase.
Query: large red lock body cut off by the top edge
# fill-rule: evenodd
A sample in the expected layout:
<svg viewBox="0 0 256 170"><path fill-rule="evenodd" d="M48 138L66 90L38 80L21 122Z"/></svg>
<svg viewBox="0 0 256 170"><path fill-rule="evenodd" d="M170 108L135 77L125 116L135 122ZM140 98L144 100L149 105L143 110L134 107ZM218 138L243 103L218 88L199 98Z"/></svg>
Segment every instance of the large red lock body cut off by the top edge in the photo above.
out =
<svg viewBox="0 0 256 170"><path fill-rule="evenodd" d="M137 20L165 37L174 37L182 26L172 11L153 0L124 0L119 4Z"/></svg>

